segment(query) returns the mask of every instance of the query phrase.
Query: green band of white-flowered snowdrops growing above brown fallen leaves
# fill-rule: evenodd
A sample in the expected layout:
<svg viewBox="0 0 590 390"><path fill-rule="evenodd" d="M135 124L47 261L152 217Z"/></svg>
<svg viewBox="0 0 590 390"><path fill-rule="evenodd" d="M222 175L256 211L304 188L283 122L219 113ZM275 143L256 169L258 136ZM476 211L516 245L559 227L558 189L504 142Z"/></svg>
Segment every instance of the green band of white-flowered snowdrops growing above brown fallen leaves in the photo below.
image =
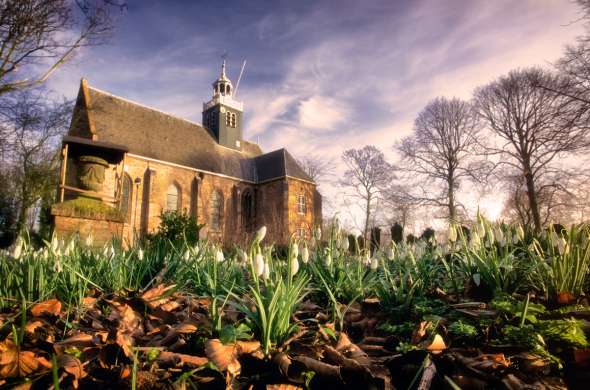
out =
<svg viewBox="0 0 590 390"><path fill-rule="evenodd" d="M427 321L433 324L431 331L444 330L460 344L496 337L499 344L516 343L559 362L549 352L554 344L588 344L580 322L551 317L551 305L563 293L573 301L588 293L589 232L574 226L560 235L549 231L526 240L517 232L518 227L480 219L470 237L460 230L451 242L401 243L370 254L358 245L349 248L334 228L325 242L292 240L286 257L263 244L264 232L248 248L225 253L205 240L189 244L160 239L131 248L112 242L90 248L53 239L34 248L19 239L0 252L0 310L56 297L72 313L67 321L76 323L75 313L83 310L89 293L135 294L174 284L175 291L209 299L208 336L233 341L253 336L271 357L303 326L294 314L304 300L325 307L335 329L345 331L347 311L377 297L391 319L379 329L399 333L401 351L418 348L408 334L416 321ZM304 247L309 261L307 253L303 261ZM448 302L434 298L446 294L470 301L478 285L493 292L488 308L498 313L487 323L453 314ZM440 325L442 316L449 319L447 325ZM10 324L22 325L18 320ZM13 332L17 341L19 333ZM135 358L133 382L138 364Z"/></svg>

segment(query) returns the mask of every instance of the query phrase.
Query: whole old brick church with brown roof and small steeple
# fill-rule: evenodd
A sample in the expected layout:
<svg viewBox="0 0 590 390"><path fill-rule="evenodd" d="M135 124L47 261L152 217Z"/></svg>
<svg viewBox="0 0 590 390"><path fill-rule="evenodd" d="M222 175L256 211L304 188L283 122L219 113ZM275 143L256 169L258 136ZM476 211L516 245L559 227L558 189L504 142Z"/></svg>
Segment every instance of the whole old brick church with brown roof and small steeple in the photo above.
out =
<svg viewBox="0 0 590 390"><path fill-rule="evenodd" d="M226 246L260 226L269 242L310 238L321 222L316 184L286 149L263 153L244 139L244 106L225 61L202 118L178 118L82 79L62 142L56 234L131 244L156 232L162 213L179 211Z"/></svg>

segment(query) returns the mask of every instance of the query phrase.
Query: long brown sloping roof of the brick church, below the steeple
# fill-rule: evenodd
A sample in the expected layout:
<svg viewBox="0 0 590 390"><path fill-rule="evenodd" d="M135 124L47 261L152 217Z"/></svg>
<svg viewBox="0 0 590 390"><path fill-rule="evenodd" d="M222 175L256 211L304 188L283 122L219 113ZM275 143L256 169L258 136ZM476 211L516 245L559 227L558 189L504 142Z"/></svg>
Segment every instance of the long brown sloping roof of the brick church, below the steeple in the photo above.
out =
<svg viewBox="0 0 590 390"><path fill-rule="evenodd" d="M70 136L123 145L129 153L248 181L283 176L312 181L285 150L263 154L241 141L242 150L217 143L200 124L89 87L82 80Z"/></svg>

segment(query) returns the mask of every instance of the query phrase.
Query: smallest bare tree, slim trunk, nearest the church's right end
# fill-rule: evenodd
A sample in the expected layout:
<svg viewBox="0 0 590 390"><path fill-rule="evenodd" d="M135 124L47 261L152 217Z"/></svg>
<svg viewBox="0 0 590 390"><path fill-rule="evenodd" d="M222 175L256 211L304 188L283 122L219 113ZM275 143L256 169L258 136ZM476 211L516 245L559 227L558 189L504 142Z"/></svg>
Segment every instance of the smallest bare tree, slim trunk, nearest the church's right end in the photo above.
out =
<svg viewBox="0 0 590 390"><path fill-rule="evenodd" d="M353 195L365 203L363 237L368 239L373 202L391 180L393 167L385 160L383 152L372 145L348 149L342 154L342 160L348 169L340 183L351 188Z"/></svg>

